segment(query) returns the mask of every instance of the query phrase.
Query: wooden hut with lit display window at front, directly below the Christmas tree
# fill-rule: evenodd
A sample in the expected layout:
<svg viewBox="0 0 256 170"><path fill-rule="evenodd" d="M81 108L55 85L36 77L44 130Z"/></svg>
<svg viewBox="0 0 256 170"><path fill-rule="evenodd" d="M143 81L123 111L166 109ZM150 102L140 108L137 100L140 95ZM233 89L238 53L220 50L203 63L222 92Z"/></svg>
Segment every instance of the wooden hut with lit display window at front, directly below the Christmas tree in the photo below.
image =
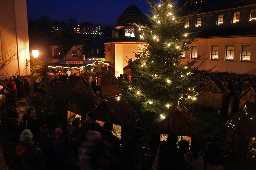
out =
<svg viewBox="0 0 256 170"><path fill-rule="evenodd" d="M180 101L159 115L153 121L149 132L152 151L157 151L160 141L166 140L168 134L176 133L180 139L189 140L191 151L198 153L201 140L205 137L201 123Z"/></svg>

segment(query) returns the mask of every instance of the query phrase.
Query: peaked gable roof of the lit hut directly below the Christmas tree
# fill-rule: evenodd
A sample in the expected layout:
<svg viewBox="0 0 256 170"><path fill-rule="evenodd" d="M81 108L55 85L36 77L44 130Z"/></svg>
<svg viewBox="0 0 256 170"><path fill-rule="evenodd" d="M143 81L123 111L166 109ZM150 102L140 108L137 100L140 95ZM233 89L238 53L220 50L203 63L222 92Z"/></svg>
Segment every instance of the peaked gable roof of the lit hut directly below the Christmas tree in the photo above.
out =
<svg viewBox="0 0 256 170"><path fill-rule="evenodd" d="M151 129L149 131L154 131L156 127L164 126L164 123L174 116L175 114L180 114L184 119L197 130L195 134L199 134L201 137L205 137L204 130L202 128L201 123L190 113L190 111L180 102L178 101L172 107L167 109L163 114L159 115L152 123ZM181 126L186 126L181 124Z"/></svg>

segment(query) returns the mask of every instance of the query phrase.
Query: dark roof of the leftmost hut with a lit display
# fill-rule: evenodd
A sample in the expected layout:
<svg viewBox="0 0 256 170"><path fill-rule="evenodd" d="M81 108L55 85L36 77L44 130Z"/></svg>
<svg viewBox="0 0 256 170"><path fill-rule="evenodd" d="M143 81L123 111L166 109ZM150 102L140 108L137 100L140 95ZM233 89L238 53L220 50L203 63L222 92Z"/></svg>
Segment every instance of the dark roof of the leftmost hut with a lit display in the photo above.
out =
<svg viewBox="0 0 256 170"><path fill-rule="evenodd" d="M68 104L70 101L72 104ZM89 111L93 111L99 105L99 103L100 102L97 96L92 90L80 90L71 92L64 105L65 108L71 112L79 114L79 112L75 111L78 107L80 113L85 114Z"/></svg>

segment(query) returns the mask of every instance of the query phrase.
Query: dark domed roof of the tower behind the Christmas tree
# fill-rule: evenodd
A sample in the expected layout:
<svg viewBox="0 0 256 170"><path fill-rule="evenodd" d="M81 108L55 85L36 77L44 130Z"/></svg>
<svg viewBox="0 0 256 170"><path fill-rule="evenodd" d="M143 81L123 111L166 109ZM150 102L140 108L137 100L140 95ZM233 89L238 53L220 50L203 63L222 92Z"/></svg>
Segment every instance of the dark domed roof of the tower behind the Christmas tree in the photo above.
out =
<svg viewBox="0 0 256 170"><path fill-rule="evenodd" d="M118 20L117 20L117 23L115 26L116 27L129 26L133 22L135 22L136 24L140 23L142 25L147 24L147 17L145 15L143 15L140 8L138 8L135 5L129 6L125 10L125 12L118 17ZM128 23L130 23L130 24L128 24Z"/></svg>

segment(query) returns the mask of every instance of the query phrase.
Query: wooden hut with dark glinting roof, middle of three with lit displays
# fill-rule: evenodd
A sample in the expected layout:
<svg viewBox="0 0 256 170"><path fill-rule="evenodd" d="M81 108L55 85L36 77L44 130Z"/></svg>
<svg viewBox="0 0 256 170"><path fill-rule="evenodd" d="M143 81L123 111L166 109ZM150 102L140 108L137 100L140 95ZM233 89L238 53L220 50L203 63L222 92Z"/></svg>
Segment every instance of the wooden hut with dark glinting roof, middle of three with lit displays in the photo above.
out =
<svg viewBox="0 0 256 170"><path fill-rule="evenodd" d="M134 123L140 119L123 95L103 99L94 112L98 115L101 126L105 121L111 121L115 125L114 133L120 139L133 135Z"/></svg>

